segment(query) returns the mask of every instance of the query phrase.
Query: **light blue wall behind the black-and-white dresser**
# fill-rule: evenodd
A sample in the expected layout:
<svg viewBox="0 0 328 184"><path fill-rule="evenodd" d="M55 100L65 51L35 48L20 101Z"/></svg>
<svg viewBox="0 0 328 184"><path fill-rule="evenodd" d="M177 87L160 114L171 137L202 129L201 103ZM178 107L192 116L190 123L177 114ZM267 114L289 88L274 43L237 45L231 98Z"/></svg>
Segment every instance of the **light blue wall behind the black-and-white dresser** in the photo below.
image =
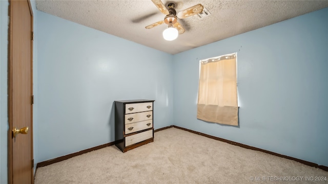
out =
<svg viewBox="0 0 328 184"><path fill-rule="evenodd" d="M172 55L40 11L37 26L36 162L115 141L115 100L156 100L154 128L173 124Z"/></svg>

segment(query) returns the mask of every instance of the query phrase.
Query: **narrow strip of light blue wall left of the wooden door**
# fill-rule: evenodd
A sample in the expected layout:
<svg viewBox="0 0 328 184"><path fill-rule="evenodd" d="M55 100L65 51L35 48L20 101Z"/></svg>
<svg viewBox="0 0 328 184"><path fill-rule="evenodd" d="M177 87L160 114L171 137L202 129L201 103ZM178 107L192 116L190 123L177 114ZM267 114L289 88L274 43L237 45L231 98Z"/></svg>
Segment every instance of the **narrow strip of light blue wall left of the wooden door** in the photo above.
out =
<svg viewBox="0 0 328 184"><path fill-rule="evenodd" d="M0 1L0 183L8 182L8 5L8 1Z"/></svg>

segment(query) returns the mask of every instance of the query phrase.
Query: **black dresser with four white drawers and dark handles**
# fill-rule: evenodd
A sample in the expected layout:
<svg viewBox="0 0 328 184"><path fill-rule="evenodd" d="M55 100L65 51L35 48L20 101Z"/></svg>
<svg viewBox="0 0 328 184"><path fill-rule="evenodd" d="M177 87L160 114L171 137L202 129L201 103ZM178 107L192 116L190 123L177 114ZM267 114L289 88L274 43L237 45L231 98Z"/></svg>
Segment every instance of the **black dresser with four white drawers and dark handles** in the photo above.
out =
<svg viewBox="0 0 328 184"><path fill-rule="evenodd" d="M122 152L154 141L154 100L115 101L115 141Z"/></svg>

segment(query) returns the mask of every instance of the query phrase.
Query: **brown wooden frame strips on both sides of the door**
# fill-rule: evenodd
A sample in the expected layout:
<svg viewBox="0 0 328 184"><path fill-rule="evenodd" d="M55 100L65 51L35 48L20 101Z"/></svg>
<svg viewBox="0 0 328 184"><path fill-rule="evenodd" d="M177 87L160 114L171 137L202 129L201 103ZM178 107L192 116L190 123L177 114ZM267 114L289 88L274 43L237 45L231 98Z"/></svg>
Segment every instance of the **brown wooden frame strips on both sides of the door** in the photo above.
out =
<svg viewBox="0 0 328 184"><path fill-rule="evenodd" d="M12 117L13 117L13 111L12 111L12 55L13 55L13 49L12 49L12 4L11 2L14 0L8 0L9 1L9 7L8 7L8 14L9 14L9 29L8 29L8 124L9 124L9 129L8 129L8 183L12 184L13 183L13 155L12 155L12 148L13 148L13 144L12 144L12 129L13 129L13 125L12 125ZM30 0L25 0L28 2L29 5L29 9L31 12L31 31L33 33L33 10L32 10L32 6L31 6L31 2ZM33 94L33 35L31 33L31 94ZM32 101L32 97L31 97L31 101ZM31 133L31 155L32 155L32 160L33 159L33 106L31 109L31 129L32 131L30 131L29 133ZM33 164L32 168L31 168L31 174L32 174L32 183L34 183L34 169L33 169Z"/></svg>

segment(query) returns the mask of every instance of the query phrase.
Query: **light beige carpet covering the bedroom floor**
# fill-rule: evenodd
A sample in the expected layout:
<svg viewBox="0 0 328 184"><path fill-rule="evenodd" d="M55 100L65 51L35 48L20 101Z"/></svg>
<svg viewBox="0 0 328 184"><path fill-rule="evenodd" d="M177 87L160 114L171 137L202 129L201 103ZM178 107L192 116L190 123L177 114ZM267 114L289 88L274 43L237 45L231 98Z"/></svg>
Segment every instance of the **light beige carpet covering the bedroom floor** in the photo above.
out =
<svg viewBox="0 0 328 184"><path fill-rule="evenodd" d="M35 184L328 183L321 169L177 128L154 138L126 153L110 146L37 168Z"/></svg>

